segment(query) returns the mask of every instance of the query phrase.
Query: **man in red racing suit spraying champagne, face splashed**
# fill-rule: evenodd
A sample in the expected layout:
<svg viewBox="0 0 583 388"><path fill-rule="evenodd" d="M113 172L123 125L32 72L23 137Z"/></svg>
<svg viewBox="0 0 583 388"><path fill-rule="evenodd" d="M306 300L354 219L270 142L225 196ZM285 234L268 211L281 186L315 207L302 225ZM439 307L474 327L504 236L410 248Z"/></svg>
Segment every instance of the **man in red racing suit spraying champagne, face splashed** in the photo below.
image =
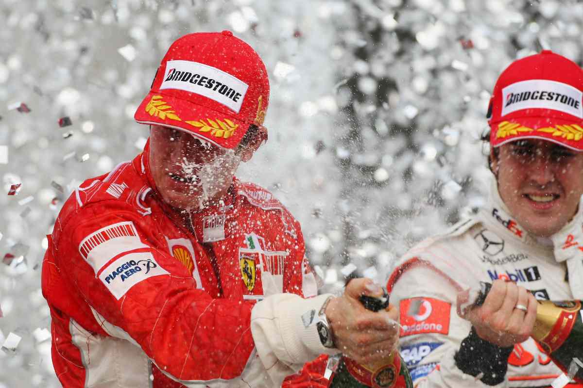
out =
<svg viewBox="0 0 583 388"><path fill-rule="evenodd" d="M233 177L266 140L268 98L261 59L229 31L170 47L136 111L144 151L76 188L48 236L64 387L274 387L319 353L394 347L389 314L357 301L380 287L316 296L297 221Z"/></svg>

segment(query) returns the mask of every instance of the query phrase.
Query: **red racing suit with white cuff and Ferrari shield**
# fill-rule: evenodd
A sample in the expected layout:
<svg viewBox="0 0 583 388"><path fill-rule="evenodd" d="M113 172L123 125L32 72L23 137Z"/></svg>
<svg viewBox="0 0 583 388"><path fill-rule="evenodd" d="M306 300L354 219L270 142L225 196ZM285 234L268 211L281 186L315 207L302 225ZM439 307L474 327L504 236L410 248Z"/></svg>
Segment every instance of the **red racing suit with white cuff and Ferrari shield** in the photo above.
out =
<svg viewBox="0 0 583 388"><path fill-rule="evenodd" d="M178 212L156 192L148 150L83 182L48 236L42 289L62 385L273 387L338 353L302 321L329 296L315 296L283 205L234 179L219 206Z"/></svg>

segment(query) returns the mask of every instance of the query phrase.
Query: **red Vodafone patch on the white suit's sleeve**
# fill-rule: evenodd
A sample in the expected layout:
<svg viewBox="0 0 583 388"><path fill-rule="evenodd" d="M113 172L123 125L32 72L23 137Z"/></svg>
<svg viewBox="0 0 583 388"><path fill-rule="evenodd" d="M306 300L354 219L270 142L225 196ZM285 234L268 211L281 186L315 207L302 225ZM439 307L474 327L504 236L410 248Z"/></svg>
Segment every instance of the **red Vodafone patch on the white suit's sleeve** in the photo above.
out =
<svg viewBox="0 0 583 388"><path fill-rule="evenodd" d="M449 333L451 304L448 302L435 298L403 299L399 310L401 337L423 333Z"/></svg>

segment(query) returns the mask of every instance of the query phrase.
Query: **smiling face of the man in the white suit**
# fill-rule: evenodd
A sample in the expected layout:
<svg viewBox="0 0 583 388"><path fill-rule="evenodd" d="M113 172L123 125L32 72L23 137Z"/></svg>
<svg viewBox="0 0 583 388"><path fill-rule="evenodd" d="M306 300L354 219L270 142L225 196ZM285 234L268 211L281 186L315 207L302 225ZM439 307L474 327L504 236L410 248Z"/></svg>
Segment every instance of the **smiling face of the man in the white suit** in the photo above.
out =
<svg viewBox="0 0 583 388"><path fill-rule="evenodd" d="M500 197L527 232L550 237L577 212L583 152L545 140L518 140L492 152Z"/></svg>

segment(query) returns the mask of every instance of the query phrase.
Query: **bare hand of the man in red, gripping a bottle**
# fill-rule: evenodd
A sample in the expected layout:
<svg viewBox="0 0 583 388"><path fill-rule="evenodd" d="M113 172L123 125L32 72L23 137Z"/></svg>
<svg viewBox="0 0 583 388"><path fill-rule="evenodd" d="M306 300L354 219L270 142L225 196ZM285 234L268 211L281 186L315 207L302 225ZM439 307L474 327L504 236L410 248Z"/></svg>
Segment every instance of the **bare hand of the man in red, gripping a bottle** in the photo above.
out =
<svg viewBox="0 0 583 388"><path fill-rule="evenodd" d="M359 364L373 364L396 351L399 343L399 309L368 311L359 301L361 295L381 297L382 288L370 279L353 279L341 297L326 307L336 348Z"/></svg>

